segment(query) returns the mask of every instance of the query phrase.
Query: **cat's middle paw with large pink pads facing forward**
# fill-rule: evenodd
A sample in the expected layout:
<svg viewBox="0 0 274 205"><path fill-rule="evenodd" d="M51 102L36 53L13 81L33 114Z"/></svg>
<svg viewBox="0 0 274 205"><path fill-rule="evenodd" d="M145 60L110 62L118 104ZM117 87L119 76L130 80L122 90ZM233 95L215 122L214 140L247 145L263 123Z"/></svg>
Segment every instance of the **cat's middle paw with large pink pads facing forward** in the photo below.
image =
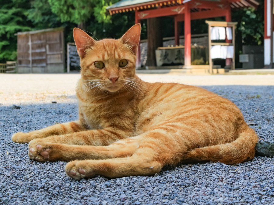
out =
<svg viewBox="0 0 274 205"><path fill-rule="evenodd" d="M56 161L58 155L54 149L54 143L47 142L45 139L33 139L29 143L29 157L38 162Z"/></svg>

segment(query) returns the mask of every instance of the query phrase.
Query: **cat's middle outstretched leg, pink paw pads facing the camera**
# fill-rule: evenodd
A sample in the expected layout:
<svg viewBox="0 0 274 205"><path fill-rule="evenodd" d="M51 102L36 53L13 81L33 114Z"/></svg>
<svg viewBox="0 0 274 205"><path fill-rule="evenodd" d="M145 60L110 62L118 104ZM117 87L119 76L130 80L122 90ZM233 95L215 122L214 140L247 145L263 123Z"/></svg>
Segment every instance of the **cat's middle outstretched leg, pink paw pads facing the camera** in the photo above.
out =
<svg viewBox="0 0 274 205"><path fill-rule="evenodd" d="M139 137L119 140L109 146L68 145L39 142L39 144L30 144L29 156L30 159L35 159L40 162L127 157L131 156L139 148L139 143Z"/></svg>

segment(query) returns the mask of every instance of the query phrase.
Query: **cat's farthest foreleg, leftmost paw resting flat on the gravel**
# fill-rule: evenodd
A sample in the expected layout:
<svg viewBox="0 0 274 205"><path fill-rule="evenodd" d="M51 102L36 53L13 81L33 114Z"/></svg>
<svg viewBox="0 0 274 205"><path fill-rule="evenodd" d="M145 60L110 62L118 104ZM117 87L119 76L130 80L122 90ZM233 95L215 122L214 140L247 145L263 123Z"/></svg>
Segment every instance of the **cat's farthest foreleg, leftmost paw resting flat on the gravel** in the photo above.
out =
<svg viewBox="0 0 274 205"><path fill-rule="evenodd" d="M83 126L80 121L72 121L52 125L47 128L35 130L28 133L17 132L12 135L12 141L17 143L28 143L35 138L45 138L51 135L64 135L73 132L80 132L85 129L85 126Z"/></svg>

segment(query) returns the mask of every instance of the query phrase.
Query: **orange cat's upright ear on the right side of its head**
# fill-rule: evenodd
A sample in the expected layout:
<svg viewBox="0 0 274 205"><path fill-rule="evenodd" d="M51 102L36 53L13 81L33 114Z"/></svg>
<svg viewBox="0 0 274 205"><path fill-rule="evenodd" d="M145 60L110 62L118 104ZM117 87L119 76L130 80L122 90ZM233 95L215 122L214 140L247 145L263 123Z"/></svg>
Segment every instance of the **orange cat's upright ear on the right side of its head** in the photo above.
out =
<svg viewBox="0 0 274 205"><path fill-rule="evenodd" d="M141 24L138 23L132 26L130 29L128 29L128 31L121 38L123 43L133 46L132 51L134 54L136 54L138 50L140 35L141 35Z"/></svg>

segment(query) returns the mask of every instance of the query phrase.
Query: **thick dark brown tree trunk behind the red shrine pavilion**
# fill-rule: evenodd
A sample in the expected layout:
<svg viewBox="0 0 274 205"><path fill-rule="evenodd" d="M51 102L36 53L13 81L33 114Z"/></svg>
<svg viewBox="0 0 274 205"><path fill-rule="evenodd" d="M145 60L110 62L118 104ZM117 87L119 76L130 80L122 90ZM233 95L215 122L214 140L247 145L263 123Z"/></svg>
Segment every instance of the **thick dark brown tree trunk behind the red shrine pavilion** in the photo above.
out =
<svg viewBox="0 0 274 205"><path fill-rule="evenodd" d="M147 60L146 66L156 66L155 50L163 46L160 18L147 19Z"/></svg>

